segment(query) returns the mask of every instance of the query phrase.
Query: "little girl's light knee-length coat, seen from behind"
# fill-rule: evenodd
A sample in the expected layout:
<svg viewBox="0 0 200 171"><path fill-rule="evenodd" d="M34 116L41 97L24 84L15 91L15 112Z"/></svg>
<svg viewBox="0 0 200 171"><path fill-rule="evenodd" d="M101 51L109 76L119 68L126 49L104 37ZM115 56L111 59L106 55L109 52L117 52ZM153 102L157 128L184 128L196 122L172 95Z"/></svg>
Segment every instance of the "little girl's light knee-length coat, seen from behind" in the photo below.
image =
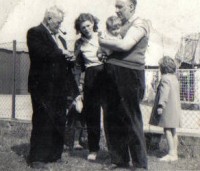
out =
<svg viewBox="0 0 200 171"><path fill-rule="evenodd" d="M179 89L179 82L175 74L162 75L149 122L151 125L164 128L177 128L181 126ZM161 115L157 113L158 105L163 107Z"/></svg>

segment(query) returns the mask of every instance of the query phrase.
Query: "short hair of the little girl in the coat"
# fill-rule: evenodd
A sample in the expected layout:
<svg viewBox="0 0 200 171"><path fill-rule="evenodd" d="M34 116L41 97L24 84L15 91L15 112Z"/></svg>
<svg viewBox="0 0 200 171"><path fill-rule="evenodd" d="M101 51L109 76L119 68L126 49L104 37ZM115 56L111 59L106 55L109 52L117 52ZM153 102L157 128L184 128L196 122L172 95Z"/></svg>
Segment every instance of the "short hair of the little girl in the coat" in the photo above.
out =
<svg viewBox="0 0 200 171"><path fill-rule="evenodd" d="M158 64L160 66L161 74L167 74L167 73L173 74L176 72L176 63L169 56L164 56L163 58L161 58Z"/></svg>

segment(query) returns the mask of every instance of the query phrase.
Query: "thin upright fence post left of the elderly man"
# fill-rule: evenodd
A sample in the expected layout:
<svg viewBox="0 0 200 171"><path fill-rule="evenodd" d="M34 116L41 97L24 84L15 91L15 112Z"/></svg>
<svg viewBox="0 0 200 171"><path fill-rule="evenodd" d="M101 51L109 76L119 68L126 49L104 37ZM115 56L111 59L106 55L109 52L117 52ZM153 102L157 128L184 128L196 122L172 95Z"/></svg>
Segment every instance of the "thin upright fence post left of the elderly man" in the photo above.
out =
<svg viewBox="0 0 200 171"><path fill-rule="evenodd" d="M16 40L13 40L13 87L12 87L12 119L15 119L15 84L16 84L16 77L15 77L15 71L16 71L16 46L17 42Z"/></svg>

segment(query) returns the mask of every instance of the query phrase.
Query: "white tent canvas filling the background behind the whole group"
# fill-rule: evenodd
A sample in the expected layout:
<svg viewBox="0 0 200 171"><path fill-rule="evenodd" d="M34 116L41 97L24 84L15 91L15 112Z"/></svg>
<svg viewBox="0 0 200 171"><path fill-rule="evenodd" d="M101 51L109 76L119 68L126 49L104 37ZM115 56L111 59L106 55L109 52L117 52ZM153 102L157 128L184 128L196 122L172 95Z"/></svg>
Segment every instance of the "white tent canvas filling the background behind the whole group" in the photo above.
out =
<svg viewBox="0 0 200 171"><path fill-rule="evenodd" d="M3 5L6 7L5 2ZM74 19L80 12L97 16L101 21L100 28L103 29L106 18L115 14L114 3L115 0L20 0L12 10L8 10L10 13L0 26L0 48L2 43L13 40L26 42L28 28L42 21L45 9L49 6L57 5L65 11L62 27L68 33L67 39L72 40L76 39ZM138 0L136 13L150 20L153 26L147 52L148 64L156 65L162 55L174 57L182 35L199 32L199 9L200 0Z"/></svg>

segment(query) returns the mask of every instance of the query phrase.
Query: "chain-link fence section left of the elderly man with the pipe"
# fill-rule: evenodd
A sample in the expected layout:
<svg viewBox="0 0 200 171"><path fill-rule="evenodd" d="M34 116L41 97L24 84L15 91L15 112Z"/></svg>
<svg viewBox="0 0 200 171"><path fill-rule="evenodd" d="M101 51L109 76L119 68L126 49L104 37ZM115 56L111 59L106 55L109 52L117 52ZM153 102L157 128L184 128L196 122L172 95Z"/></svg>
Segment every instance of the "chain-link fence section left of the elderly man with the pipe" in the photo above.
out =
<svg viewBox="0 0 200 171"><path fill-rule="evenodd" d="M30 66L27 48L19 42L1 44L0 47L0 118L30 120L32 109L27 91Z"/></svg>

